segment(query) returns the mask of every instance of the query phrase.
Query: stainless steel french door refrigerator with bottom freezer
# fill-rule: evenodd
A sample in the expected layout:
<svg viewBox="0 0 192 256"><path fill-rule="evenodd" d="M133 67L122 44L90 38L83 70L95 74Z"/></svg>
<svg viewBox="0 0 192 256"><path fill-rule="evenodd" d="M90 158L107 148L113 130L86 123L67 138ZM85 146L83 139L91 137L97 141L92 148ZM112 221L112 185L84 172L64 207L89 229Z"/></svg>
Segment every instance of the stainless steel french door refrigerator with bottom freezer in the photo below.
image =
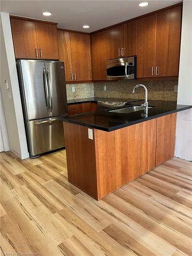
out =
<svg viewBox="0 0 192 256"><path fill-rule="evenodd" d="M61 117L68 115L64 62L16 61L29 153L65 146Z"/></svg>

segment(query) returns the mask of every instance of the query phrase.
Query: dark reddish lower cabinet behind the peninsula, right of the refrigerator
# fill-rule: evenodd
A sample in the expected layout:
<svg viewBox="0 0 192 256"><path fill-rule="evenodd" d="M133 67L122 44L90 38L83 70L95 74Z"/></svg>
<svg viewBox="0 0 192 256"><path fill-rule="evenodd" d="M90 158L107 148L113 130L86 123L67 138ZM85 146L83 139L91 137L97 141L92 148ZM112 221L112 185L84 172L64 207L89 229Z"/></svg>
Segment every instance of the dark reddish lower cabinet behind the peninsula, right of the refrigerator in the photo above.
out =
<svg viewBox="0 0 192 256"><path fill-rule="evenodd" d="M87 113L87 112L96 111L96 110L97 110L96 102L84 102L84 103L68 105L69 115L77 115L77 114Z"/></svg>

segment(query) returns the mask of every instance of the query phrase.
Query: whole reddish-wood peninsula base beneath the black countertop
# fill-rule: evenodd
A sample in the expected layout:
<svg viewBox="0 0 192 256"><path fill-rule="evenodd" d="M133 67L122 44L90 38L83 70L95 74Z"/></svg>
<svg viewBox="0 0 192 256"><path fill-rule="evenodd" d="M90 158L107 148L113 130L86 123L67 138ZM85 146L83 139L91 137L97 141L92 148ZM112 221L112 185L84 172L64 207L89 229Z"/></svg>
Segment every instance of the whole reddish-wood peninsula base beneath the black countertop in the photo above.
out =
<svg viewBox="0 0 192 256"><path fill-rule="evenodd" d="M113 132L64 123L69 182L99 200L174 157L176 114Z"/></svg>

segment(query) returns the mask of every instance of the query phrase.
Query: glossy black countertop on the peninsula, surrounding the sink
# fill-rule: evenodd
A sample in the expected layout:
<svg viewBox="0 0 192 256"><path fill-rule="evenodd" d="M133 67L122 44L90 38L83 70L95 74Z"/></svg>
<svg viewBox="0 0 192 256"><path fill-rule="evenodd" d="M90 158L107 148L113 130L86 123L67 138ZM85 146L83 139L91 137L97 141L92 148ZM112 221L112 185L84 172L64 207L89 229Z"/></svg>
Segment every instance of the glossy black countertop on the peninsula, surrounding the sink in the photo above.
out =
<svg viewBox="0 0 192 256"><path fill-rule="evenodd" d="M141 105L141 101L133 102L132 104ZM111 132L136 123L192 108L192 105L178 105L177 101L164 100L149 100L148 105L154 106L154 108L148 109L147 115L144 113L144 110L127 114L119 114L109 112L109 110L112 109L108 109L68 116L62 118L62 120L91 127L93 129Z"/></svg>

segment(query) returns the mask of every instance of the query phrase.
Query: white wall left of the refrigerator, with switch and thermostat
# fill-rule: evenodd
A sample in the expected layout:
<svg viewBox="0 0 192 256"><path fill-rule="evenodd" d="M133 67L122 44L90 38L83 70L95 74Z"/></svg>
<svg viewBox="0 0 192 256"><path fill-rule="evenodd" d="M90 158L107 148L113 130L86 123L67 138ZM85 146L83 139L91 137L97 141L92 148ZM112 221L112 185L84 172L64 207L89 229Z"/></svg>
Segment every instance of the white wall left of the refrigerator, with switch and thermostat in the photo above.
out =
<svg viewBox="0 0 192 256"><path fill-rule="evenodd" d="M9 83L8 90L5 80ZM21 159L28 158L9 13L3 12L1 12L1 93L10 150Z"/></svg>

